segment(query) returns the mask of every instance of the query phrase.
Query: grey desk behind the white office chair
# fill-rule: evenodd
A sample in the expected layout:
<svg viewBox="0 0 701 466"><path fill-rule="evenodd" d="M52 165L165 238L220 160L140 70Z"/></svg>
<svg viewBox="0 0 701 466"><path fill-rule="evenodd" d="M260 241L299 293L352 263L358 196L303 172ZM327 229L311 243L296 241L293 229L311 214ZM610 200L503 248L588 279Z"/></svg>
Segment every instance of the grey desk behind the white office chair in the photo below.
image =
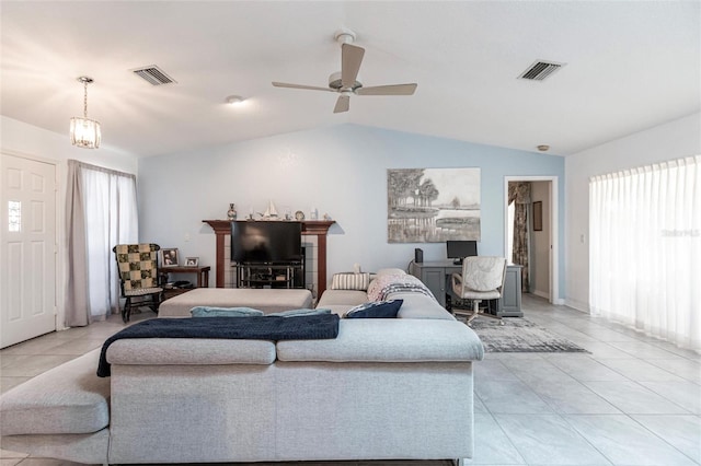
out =
<svg viewBox="0 0 701 466"><path fill-rule="evenodd" d="M452 260L433 260L416 264L411 263L409 272L424 282L434 293L441 306L446 306L446 295L452 294L450 276L461 273L462 266ZM521 312L521 266L509 264L506 266L506 278L497 315L499 317L522 317Z"/></svg>

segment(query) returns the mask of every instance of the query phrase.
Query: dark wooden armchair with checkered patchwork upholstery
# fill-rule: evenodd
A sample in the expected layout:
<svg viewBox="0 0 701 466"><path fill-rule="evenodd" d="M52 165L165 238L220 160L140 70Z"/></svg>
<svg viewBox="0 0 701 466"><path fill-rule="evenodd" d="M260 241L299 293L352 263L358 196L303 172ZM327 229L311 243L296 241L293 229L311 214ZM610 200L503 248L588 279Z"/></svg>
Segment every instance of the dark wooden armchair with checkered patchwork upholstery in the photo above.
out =
<svg viewBox="0 0 701 466"><path fill-rule="evenodd" d="M122 319L126 324L131 307L148 305L158 314L163 289L158 286L158 244L117 244L112 251L117 258L119 288L126 299Z"/></svg>

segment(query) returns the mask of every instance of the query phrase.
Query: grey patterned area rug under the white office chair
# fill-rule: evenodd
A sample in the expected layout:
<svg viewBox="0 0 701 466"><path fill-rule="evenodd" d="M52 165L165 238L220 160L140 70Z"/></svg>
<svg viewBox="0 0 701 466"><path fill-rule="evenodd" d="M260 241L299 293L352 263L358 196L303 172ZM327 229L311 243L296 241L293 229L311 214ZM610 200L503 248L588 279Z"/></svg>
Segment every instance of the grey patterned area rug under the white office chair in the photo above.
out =
<svg viewBox="0 0 701 466"><path fill-rule="evenodd" d="M458 319L464 322L464 317ZM482 340L485 352L589 352L566 338L521 317L478 317L470 327Z"/></svg>

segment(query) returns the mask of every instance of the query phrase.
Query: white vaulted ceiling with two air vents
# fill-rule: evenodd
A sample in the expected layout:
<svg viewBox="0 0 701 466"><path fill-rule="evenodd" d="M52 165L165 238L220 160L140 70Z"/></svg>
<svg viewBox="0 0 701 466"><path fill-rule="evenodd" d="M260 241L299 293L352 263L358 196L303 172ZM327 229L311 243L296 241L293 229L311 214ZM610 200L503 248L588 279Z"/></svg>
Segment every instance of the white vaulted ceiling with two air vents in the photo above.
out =
<svg viewBox="0 0 701 466"><path fill-rule="evenodd" d="M352 123L567 155L701 108L698 1L2 1L2 115L59 133L82 115L139 156ZM334 33L357 34L366 85L337 95ZM566 63L543 81L537 60ZM156 65L176 83L131 70ZM243 105L226 105L229 95Z"/></svg>

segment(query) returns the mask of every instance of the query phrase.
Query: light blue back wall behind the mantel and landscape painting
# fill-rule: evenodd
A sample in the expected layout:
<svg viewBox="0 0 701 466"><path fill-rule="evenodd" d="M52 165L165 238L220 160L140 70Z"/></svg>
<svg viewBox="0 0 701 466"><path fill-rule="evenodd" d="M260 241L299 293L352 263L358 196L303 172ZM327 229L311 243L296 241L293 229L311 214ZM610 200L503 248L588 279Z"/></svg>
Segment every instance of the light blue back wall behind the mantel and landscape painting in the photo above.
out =
<svg viewBox="0 0 701 466"><path fill-rule="evenodd" d="M560 244L563 243L564 159L451 139L340 125L204 148L139 161L141 241L177 247L181 256L215 264L215 235L203 220L263 212L269 199L284 213L315 207L337 223L329 234L329 277L353 269L405 268L414 247L440 260L445 244L387 242L387 170L479 167L482 186L480 254L504 254L504 177L559 177ZM563 295L564 248L559 260Z"/></svg>

